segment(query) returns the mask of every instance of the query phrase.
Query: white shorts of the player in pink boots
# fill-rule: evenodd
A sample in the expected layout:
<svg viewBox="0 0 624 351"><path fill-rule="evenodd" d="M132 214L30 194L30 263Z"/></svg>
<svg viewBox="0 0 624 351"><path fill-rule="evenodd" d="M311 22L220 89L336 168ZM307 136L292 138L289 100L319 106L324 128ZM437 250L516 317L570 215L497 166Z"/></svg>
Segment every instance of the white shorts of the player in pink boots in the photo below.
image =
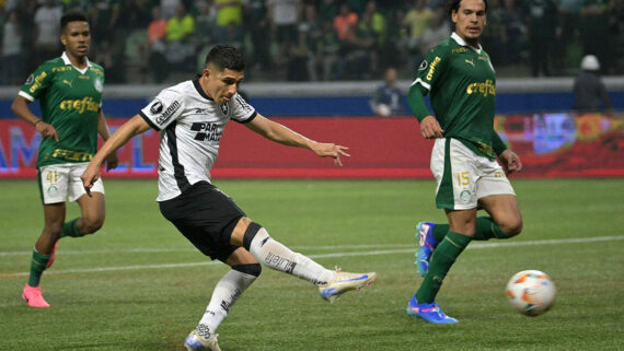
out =
<svg viewBox="0 0 624 351"><path fill-rule="evenodd" d="M84 162L41 167L38 180L44 204L65 202L68 198L70 201L76 201L85 195L80 176L88 165L89 163ZM104 194L102 179L95 182L91 191Z"/></svg>

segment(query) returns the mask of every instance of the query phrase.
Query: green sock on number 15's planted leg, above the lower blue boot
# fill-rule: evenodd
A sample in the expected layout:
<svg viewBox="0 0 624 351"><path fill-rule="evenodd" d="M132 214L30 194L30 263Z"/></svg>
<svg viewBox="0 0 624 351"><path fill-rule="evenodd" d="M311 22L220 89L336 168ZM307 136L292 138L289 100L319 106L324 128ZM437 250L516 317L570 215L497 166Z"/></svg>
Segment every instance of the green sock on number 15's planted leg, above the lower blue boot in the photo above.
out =
<svg viewBox="0 0 624 351"><path fill-rule="evenodd" d="M434 255L431 255L429 270L416 292L418 303L432 303L436 300L436 295L440 286L442 286L442 280L470 242L470 236L448 232L444 239L440 242Z"/></svg>

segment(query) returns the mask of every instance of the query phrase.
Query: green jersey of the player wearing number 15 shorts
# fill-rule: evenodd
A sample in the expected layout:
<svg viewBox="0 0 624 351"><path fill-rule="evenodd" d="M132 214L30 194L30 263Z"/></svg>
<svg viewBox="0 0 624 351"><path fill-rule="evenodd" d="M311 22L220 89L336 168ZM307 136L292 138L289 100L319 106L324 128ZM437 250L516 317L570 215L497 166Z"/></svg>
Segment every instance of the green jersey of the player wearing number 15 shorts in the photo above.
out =
<svg viewBox="0 0 624 351"><path fill-rule="evenodd" d="M446 138L458 139L475 153L495 157L496 77L483 48L469 47L453 33L427 54L414 83L430 94Z"/></svg>

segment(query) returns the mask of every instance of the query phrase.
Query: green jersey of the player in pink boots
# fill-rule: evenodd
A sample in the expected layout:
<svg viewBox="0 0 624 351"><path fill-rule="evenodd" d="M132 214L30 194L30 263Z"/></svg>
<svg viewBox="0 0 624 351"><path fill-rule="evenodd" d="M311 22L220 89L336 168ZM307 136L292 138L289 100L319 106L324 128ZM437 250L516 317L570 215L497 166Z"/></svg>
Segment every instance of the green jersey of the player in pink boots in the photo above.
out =
<svg viewBox="0 0 624 351"><path fill-rule="evenodd" d="M79 71L63 52L39 66L20 95L39 101L42 118L54 126L59 141L44 138L37 167L89 162L97 151L97 114L102 105L104 69L93 62Z"/></svg>

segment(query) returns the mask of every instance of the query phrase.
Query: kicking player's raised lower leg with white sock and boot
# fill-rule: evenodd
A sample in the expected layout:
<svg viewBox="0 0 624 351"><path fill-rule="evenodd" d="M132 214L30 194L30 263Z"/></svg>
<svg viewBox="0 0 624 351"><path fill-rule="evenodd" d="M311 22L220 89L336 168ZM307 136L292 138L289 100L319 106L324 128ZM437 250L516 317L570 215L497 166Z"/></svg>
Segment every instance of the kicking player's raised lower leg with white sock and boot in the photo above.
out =
<svg viewBox="0 0 624 351"><path fill-rule="evenodd" d="M275 241L262 225L242 218L236 224L232 245L242 245L264 265L319 286L324 300L334 302L343 293L368 286L377 279L377 273L349 273L339 269L328 270L307 256L293 253Z"/></svg>

